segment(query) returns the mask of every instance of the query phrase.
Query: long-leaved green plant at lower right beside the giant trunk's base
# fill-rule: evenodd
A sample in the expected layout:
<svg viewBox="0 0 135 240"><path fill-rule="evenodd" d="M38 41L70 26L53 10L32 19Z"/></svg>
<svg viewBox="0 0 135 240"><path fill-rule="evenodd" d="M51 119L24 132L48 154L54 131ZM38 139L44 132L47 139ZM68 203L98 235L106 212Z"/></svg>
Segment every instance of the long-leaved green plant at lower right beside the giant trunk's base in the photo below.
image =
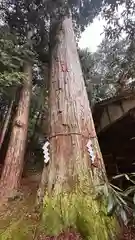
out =
<svg viewBox="0 0 135 240"><path fill-rule="evenodd" d="M130 186L122 190L119 187L109 183L108 187L102 185L97 187L97 193L106 196L107 214L112 216L114 213L127 225L134 221L135 216L135 173L119 174L113 179L125 178Z"/></svg>

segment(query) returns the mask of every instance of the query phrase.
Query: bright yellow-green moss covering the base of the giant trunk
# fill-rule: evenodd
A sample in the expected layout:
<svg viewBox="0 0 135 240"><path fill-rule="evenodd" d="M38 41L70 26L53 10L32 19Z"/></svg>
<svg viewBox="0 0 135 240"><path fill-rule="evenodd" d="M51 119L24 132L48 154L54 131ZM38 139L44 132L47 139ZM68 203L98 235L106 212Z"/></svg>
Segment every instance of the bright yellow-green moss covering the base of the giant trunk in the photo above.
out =
<svg viewBox="0 0 135 240"><path fill-rule="evenodd" d="M116 240L117 222L108 217L105 201L92 194L74 191L44 198L43 223L46 235L56 236L73 228L86 240Z"/></svg>

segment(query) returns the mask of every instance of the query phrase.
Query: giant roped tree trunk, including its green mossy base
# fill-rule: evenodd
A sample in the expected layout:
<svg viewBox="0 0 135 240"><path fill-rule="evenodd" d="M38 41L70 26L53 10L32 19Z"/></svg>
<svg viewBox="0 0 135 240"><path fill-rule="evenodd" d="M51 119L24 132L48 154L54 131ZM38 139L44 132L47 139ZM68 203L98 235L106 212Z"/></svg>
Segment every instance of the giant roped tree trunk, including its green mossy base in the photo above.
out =
<svg viewBox="0 0 135 240"><path fill-rule="evenodd" d="M72 228L81 234L81 239L116 240L115 219L107 218L103 214L104 202L92 197L96 185L105 182L106 176L72 19L65 17L58 29L58 41L51 52L51 159L44 197L45 231L51 236ZM70 239L70 236L58 239Z"/></svg>

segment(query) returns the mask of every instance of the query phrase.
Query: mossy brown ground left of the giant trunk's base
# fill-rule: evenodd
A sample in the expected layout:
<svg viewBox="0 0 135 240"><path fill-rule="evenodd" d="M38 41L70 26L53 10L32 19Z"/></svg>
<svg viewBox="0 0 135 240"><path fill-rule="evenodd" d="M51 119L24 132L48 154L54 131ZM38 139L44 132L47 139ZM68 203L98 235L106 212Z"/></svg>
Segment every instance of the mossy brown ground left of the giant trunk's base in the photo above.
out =
<svg viewBox="0 0 135 240"><path fill-rule="evenodd" d="M40 218L34 211L38 182L25 181L23 197L0 208L0 240L38 239Z"/></svg>

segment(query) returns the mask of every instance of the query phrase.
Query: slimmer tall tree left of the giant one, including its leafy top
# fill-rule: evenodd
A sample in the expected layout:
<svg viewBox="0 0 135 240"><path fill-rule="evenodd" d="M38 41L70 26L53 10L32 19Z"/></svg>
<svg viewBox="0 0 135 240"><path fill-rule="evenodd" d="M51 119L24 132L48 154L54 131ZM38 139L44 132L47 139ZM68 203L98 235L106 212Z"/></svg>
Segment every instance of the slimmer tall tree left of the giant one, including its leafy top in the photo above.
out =
<svg viewBox="0 0 135 240"><path fill-rule="evenodd" d="M11 7L10 10L9 7ZM17 46L19 46L19 49L23 49L21 57L22 65L20 65L20 68L23 69L24 74L20 100L13 121L12 133L1 176L1 197L8 197L16 193L23 171L32 91L32 62L30 54L33 51L34 44L32 38L35 34L35 21L33 20L32 14L34 15L35 13L34 16L35 18L37 17L34 7L34 3L31 6L31 2L27 3L25 1L6 1L3 3L5 21L9 25L10 32L16 36Z"/></svg>

